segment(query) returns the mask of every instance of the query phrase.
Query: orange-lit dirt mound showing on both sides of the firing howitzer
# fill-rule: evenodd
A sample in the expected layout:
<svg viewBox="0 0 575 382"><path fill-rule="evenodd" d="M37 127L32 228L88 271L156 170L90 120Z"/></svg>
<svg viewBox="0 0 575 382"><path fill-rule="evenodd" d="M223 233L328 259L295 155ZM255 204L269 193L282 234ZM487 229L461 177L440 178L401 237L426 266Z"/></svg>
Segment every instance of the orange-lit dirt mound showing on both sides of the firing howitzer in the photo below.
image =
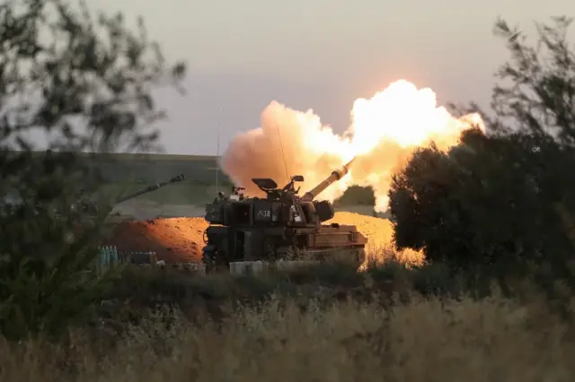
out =
<svg viewBox="0 0 575 382"><path fill-rule="evenodd" d="M367 236L368 252L382 255L389 248L394 232L392 223L359 213L335 213L326 223L356 225ZM110 245L119 251L154 251L166 263L199 262L204 246L203 233L208 222L203 218L165 218L152 221L129 221L119 224L113 231ZM412 256L412 255L409 255Z"/></svg>

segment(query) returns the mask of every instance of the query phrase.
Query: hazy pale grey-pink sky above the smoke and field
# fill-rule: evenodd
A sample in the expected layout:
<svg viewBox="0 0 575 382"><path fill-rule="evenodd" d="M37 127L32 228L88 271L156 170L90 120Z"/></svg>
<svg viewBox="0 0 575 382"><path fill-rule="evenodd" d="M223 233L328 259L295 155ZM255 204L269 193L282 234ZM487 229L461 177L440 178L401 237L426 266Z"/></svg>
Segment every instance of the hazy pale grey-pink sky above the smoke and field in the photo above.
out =
<svg viewBox="0 0 575 382"><path fill-rule="evenodd" d="M487 105L492 74L507 58L492 35L496 18L533 30L534 21L575 16L573 0L88 3L142 15L165 55L189 63L188 95L163 92L161 100L170 115L164 148L188 154L214 154L217 131L224 149L237 132L260 125L271 100L314 109L341 132L353 100L400 78L430 87L440 102Z"/></svg>

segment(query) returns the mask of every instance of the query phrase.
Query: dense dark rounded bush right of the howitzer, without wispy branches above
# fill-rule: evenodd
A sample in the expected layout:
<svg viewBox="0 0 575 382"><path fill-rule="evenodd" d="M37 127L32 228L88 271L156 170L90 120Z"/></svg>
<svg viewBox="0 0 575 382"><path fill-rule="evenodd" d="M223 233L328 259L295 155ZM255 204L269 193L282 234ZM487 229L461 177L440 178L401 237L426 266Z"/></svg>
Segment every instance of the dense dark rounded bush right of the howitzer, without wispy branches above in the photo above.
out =
<svg viewBox="0 0 575 382"><path fill-rule="evenodd" d="M568 196L560 154L554 143L478 130L449 152L420 149L393 178L397 246L464 268L566 256L571 243L554 209ZM557 161L565 167L547 171Z"/></svg>

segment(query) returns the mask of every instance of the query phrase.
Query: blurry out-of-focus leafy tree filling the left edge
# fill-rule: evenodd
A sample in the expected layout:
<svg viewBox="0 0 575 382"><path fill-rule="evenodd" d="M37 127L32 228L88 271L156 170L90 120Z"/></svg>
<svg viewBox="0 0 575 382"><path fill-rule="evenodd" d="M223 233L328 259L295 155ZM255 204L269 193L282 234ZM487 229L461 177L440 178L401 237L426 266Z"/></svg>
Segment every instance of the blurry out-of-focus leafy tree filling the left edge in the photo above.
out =
<svg viewBox="0 0 575 382"><path fill-rule="evenodd" d="M79 5L79 6L75 6ZM90 272L106 210L75 202L99 174L79 152L153 151L163 118L152 91L179 85L142 20L62 0L0 5L0 331L58 334L88 313L105 279ZM47 152L34 142L47 141Z"/></svg>

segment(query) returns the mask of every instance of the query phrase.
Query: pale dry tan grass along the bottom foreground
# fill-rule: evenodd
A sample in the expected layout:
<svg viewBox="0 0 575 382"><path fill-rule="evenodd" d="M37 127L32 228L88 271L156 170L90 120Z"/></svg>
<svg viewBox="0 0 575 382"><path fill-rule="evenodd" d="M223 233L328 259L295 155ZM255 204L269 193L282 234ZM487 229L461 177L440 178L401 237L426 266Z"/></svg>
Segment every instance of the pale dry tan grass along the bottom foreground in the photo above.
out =
<svg viewBox="0 0 575 382"><path fill-rule="evenodd" d="M571 326L537 301L421 300L387 311L349 302L327 310L312 304L305 313L283 302L247 310L220 329L151 321L106 357L82 336L57 349L0 345L0 379L529 382L575 375Z"/></svg>

